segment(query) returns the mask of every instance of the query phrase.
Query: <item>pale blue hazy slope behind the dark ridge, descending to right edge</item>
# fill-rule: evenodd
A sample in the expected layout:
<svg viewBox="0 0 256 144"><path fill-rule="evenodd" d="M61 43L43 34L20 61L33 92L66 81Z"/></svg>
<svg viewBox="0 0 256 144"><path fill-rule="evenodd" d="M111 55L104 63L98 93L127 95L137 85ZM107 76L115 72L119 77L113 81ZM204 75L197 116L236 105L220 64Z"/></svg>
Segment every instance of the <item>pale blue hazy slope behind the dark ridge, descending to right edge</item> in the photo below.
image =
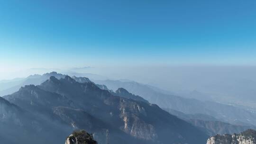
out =
<svg viewBox="0 0 256 144"><path fill-rule="evenodd" d="M155 103L161 108L174 109L185 114L206 114L231 124L248 123L256 125L256 113L231 105L220 104L212 101L200 101L197 99L186 99L179 96L168 95L152 89L150 86L134 81L94 81L106 85L109 89L117 90L124 88L129 92L139 95Z"/></svg>

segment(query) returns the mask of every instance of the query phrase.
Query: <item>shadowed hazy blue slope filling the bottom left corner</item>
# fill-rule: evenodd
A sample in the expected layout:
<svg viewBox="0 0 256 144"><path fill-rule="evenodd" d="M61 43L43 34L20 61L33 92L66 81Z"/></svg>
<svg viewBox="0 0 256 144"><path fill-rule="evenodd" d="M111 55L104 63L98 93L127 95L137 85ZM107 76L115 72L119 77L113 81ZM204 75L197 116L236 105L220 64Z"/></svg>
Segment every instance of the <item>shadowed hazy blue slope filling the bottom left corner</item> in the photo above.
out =
<svg viewBox="0 0 256 144"><path fill-rule="evenodd" d="M0 137L7 141L1 141L2 144L45 144L45 139L59 143L61 141L51 135L63 137L70 131L3 98L0 98L0 127Z"/></svg>

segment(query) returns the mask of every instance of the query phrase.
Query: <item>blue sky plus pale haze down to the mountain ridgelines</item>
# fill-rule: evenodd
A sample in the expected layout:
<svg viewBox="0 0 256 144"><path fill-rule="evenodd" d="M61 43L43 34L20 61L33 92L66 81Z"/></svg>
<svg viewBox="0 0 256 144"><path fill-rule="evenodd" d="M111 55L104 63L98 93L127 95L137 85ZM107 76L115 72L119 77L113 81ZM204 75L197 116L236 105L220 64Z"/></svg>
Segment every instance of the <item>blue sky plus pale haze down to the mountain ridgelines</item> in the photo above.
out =
<svg viewBox="0 0 256 144"><path fill-rule="evenodd" d="M251 95L255 6L254 0L2 1L0 80L80 72L169 91Z"/></svg>

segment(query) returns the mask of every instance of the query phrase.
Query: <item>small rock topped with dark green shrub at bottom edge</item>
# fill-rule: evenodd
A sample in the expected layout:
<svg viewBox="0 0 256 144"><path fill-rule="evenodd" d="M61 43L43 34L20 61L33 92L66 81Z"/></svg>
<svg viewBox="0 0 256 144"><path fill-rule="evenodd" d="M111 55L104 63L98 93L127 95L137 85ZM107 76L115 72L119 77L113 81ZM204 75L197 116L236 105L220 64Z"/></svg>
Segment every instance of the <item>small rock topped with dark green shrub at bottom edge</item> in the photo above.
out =
<svg viewBox="0 0 256 144"><path fill-rule="evenodd" d="M98 144L93 136L85 130L74 131L66 139L65 144Z"/></svg>

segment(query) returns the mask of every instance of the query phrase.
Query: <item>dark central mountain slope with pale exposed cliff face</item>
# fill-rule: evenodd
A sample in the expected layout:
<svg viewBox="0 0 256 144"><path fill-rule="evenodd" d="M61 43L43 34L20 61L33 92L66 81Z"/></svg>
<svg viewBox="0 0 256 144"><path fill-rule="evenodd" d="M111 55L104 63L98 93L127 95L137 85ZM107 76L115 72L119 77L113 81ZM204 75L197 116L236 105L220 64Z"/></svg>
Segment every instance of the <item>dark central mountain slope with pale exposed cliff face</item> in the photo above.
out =
<svg viewBox="0 0 256 144"><path fill-rule="evenodd" d="M206 135L201 131L158 106L113 96L92 82L79 83L69 76L60 80L50 77L38 87L72 99L93 117L147 143L202 144L205 141Z"/></svg>

